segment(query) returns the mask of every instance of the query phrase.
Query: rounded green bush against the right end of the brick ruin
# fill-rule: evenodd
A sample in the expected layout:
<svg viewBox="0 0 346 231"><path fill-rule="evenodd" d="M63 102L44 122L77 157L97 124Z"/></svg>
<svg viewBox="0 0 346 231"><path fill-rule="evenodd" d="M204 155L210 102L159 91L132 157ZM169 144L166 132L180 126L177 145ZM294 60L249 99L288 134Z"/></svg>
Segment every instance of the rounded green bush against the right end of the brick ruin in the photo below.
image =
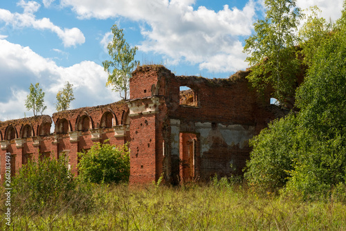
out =
<svg viewBox="0 0 346 231"><path fill-rule="evenodd" d="M295 115L291 114L269 124L267 129L251 140L253 151L244 176L257 190L275 191L286 184L298 156L296 126Z"/></svg>

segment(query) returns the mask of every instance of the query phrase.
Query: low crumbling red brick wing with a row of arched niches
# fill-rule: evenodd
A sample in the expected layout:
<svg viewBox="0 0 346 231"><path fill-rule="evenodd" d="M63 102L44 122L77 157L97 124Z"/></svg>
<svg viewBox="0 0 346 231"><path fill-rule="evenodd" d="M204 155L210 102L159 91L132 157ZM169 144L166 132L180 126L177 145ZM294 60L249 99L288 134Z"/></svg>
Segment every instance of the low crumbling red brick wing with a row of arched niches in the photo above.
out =
<svg viewBox="0 0 346 231"><path fill-rule="evenodd" d="M94 142L109 140L112 145L129 141L128 107L117 102L97 107L62 111L49 115L8 120L0 123L1 175L5 172L5 154L12 156L14 173L30 159L59 158L64 155L71 172L78 174L78 155ZM51 133L51 124L55 131Z"/></svg>

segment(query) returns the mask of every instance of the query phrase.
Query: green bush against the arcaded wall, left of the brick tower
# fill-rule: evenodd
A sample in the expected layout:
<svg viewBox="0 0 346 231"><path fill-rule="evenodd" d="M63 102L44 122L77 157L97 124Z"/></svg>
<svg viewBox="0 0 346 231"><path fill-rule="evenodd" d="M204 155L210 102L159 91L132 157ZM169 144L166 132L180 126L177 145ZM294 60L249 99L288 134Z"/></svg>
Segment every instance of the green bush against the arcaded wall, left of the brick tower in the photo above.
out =
<svg viewBox="0 0 346 231"><path fill-rule="evenodd" d="M120 183L129 181L129 149L127 145L95 143L87 153L78 153L79 178L91 183Z"/></svg>

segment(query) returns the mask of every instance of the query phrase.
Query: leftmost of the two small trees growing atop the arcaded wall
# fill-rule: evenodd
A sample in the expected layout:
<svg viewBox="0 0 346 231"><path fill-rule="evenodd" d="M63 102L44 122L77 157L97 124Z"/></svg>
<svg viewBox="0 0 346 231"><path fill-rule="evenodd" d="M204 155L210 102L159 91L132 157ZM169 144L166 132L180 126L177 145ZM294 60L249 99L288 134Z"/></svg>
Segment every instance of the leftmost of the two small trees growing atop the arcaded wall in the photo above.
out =
<svg viewBox="0 0 346 231"><path fill-rule="evenodd" d="M43 113L44 110L47 109L47 107L44 105L44 92L42 89L39 88L39 83L35 84L30 84L29 87L30 93L26 97L25 101L25 107L26 109L33 110L34 116L37 115L37 112Z"/></svg>

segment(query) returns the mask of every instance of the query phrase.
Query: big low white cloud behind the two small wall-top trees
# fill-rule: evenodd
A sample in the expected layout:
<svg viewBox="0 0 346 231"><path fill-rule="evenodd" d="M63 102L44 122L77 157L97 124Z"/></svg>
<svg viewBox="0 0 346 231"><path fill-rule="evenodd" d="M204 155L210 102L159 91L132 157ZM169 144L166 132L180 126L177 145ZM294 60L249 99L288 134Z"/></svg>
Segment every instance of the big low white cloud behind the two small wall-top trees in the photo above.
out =
<svg viewBox="0 0 346 231"><path fill-rule="evenodd" d="M51 59L37 55L29 47L0 39L1 97L0 120L21 118L26 113L24 100L30 83L39 82L45 95L46 114L55 112L57 91L66 81L73 84L75 100L72 108L91 107L120 100L118 94L106 88L107 74L95 62L84 61L69 67L57 66ZM10 77L9 77L10 76Z"/></svg>

